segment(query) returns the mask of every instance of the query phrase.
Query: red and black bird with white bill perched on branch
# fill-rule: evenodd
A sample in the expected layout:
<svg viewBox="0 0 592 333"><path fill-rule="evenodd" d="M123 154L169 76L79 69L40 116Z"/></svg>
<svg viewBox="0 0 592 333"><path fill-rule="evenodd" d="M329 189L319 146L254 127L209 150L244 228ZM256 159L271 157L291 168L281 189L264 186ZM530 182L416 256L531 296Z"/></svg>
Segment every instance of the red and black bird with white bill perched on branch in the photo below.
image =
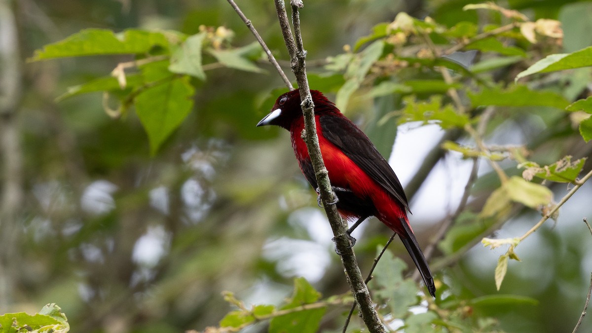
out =
<svg viewBox="0 0 592 333"><path fill-rule="evenodd" d="M310 92L321 155L339 199L337 210L346 219L357 219L348 230L348 236L363 220L376 216L401 238L427 290L435 296L434 279L409 225L409 205L397 175L368 136L343 116L335 104L320 91ZM290 132L300 169L313 188L318 188L308 149L301 137L304 117L298 89L278 97L272 110L257 126L276 125Z"/></svg>

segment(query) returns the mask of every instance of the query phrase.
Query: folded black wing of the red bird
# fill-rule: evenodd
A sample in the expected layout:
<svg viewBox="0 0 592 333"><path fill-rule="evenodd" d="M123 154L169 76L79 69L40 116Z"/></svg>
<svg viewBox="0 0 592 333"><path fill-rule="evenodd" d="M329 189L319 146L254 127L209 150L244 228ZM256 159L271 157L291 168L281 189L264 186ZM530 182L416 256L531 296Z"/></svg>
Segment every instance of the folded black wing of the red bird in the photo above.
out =
<svg viewBox="0 0 592 333"><path fill-rule="evenodd" d="M327 140L409 210L401 182L368 136L345 117L321 116L319 122Z"/></svg>

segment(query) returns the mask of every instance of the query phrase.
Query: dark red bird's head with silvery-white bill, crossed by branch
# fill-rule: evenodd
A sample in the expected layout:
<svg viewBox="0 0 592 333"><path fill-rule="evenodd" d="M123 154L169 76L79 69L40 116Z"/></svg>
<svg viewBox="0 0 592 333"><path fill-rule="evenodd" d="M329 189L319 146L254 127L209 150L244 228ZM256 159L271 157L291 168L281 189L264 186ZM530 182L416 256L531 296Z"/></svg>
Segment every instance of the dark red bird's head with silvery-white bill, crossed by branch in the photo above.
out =
<svg viewBox="0 0 592 333"><path fill-rule="evenodd" d="M335 105L324 97L323 93L311 90L313 96L314 113L319 114L326 110L338 111ZM300 92L298 89L282 94L275 101L274 107L257 126L276 125L289 130L295 121L303 121L302 108L300 107Z"/></svg>

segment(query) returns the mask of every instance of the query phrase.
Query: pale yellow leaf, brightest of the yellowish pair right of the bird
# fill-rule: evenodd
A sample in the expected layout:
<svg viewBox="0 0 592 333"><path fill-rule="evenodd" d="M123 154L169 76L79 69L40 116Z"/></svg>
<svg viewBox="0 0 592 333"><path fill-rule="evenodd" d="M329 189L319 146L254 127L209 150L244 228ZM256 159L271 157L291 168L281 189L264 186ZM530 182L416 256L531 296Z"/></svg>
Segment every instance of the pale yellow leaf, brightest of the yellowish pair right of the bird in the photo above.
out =
<svg viewBox="0 0 592 333"><path fill-rule="evenodd" d="M512 201L522 203L532 209L546 206L553 199L553 192L549 188L526 181L518 176L511 177L503 187Z"/></svg>

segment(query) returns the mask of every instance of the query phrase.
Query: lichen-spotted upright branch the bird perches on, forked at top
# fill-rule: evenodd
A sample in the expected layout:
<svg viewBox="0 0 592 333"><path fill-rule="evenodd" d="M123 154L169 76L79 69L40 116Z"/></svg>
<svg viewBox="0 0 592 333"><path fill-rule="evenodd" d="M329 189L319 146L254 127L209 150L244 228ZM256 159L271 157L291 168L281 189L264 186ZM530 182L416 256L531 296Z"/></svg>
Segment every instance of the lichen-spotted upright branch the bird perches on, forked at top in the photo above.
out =
<svg viewBox="0 0 592 333"><path fill-rule="evenodd" d="M359 305L362 319L370 332L384 332L384 326L378 318L378 313L374 309L374 304L370 297L368 287L362 278L362 273L356 262L356 257L350 247L348 236L346 235L346 226L343 223L341 216L337 212L334 204L327 204L334 202L334 193L331 189L327 169L324 166L323 158L321 156L320 146L318 145L318 137L316 132L316 123L314 121L314 104L310 95L310 88L308 88L308 79L306 76L305 58L306 51L303 47L302 37L300 34L300 18L298 9L303 7L303 2L300 0L292 0L292 24L294 24L294 33L296 34L296 41L292 37L292 31L288 21L288 15L285 10L284 0L275 0L275 8L278 14L279 25L282 28L282 35L288 52L290 54L290 66L292 72L296 76L298 82L298 89L300 91L301 107L304 113L304 141L306 142L308 154L310 155L313 164L314 174L319 186L321 200L331 228L333 229L334 240L341 254L343 267L345 268L347 280L350 284L352 294Z"/></svg>

